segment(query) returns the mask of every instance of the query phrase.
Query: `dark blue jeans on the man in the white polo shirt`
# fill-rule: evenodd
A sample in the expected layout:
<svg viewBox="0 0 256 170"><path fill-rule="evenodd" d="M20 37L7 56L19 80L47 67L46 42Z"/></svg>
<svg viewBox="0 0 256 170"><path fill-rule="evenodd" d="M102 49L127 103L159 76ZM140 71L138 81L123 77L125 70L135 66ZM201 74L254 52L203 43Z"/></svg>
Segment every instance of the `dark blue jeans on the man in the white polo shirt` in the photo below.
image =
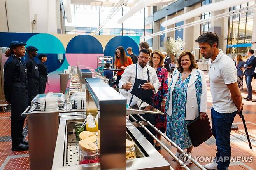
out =
<svg viewBox="0 0 256 170"><path fill-rule="evenodd" d="M237 111L233 113L219 113L212 108L212 135L216 139L217 153L215 161L218 170L228 168L231 157L230 131Z"/></svg>

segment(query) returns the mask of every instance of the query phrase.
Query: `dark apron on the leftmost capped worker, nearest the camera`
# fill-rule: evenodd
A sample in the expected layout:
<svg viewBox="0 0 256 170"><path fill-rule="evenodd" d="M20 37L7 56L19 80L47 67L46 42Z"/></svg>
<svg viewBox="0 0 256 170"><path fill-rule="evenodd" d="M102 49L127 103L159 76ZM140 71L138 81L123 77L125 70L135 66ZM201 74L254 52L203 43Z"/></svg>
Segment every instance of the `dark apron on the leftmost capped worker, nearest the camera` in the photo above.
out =
<svg viewBox="0 0 256 170"><path fill-rule="evenodd" d="M21 61L19 61L19 64L19 82L11 84L11 120L24 120L25 118L21 116L21 113L28 107L27 69Z"/></svg>

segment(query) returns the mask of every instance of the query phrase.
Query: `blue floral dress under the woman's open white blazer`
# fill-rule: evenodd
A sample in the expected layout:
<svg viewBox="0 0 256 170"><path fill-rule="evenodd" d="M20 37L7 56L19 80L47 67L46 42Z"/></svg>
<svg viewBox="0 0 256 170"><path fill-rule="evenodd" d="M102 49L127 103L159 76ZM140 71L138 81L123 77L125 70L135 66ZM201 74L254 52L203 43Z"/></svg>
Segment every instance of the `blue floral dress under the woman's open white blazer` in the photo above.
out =
<svg viewBox="0 0 256 170"><path fill-rule="evenodd" d="M179 74L172 94L172 116L167 115L166 135L175 144L181 147L181 149L192 146L187 129L187 125L190 121L185 120L187 87L190 76L191 75L182 81L181 73Z"/></svg>

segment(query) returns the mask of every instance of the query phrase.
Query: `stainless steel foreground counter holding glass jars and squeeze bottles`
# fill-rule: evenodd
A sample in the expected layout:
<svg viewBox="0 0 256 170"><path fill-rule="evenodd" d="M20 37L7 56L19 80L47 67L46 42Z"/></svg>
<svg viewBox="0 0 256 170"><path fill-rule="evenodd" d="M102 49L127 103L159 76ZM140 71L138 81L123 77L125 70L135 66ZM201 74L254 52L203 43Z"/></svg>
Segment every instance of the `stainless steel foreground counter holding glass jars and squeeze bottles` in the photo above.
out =
<svg viewBox="0 0 256 170"><path fill-rule="evenodd" d="M85 115L80 116L62 116L60 118L60 125L56 147L53 159L53 170L98 170L99 164L84 164L78 165L79 146L78 141L72 133L72 125L74 123L82 122L86 118ZM160 153L147 141L147 139L135 128L135 126L126 120L127 138L135 142L137 151L140 152L140 158L135 158L132 161L126 161L127 170L169 170L170 164L161 156ZM74 139L73 139L74 138ZM74 142L76 141L76 142ZM103 141L101 141L102 143ZM115 141L112 141L115 143ZM115 163L111 160L110 164Z"/></svg>

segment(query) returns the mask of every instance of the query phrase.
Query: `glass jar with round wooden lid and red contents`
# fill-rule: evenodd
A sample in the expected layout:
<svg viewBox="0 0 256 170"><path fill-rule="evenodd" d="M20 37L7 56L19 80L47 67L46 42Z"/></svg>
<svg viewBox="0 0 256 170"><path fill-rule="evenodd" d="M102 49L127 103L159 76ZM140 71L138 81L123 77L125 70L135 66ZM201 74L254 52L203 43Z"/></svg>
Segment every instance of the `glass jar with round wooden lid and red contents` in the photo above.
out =
<svg viewBox="0 0 256 170"><path fill-rule="evenodd" d="M79 141L79 164L98 163L98 147L93 142Z"/></svg>

